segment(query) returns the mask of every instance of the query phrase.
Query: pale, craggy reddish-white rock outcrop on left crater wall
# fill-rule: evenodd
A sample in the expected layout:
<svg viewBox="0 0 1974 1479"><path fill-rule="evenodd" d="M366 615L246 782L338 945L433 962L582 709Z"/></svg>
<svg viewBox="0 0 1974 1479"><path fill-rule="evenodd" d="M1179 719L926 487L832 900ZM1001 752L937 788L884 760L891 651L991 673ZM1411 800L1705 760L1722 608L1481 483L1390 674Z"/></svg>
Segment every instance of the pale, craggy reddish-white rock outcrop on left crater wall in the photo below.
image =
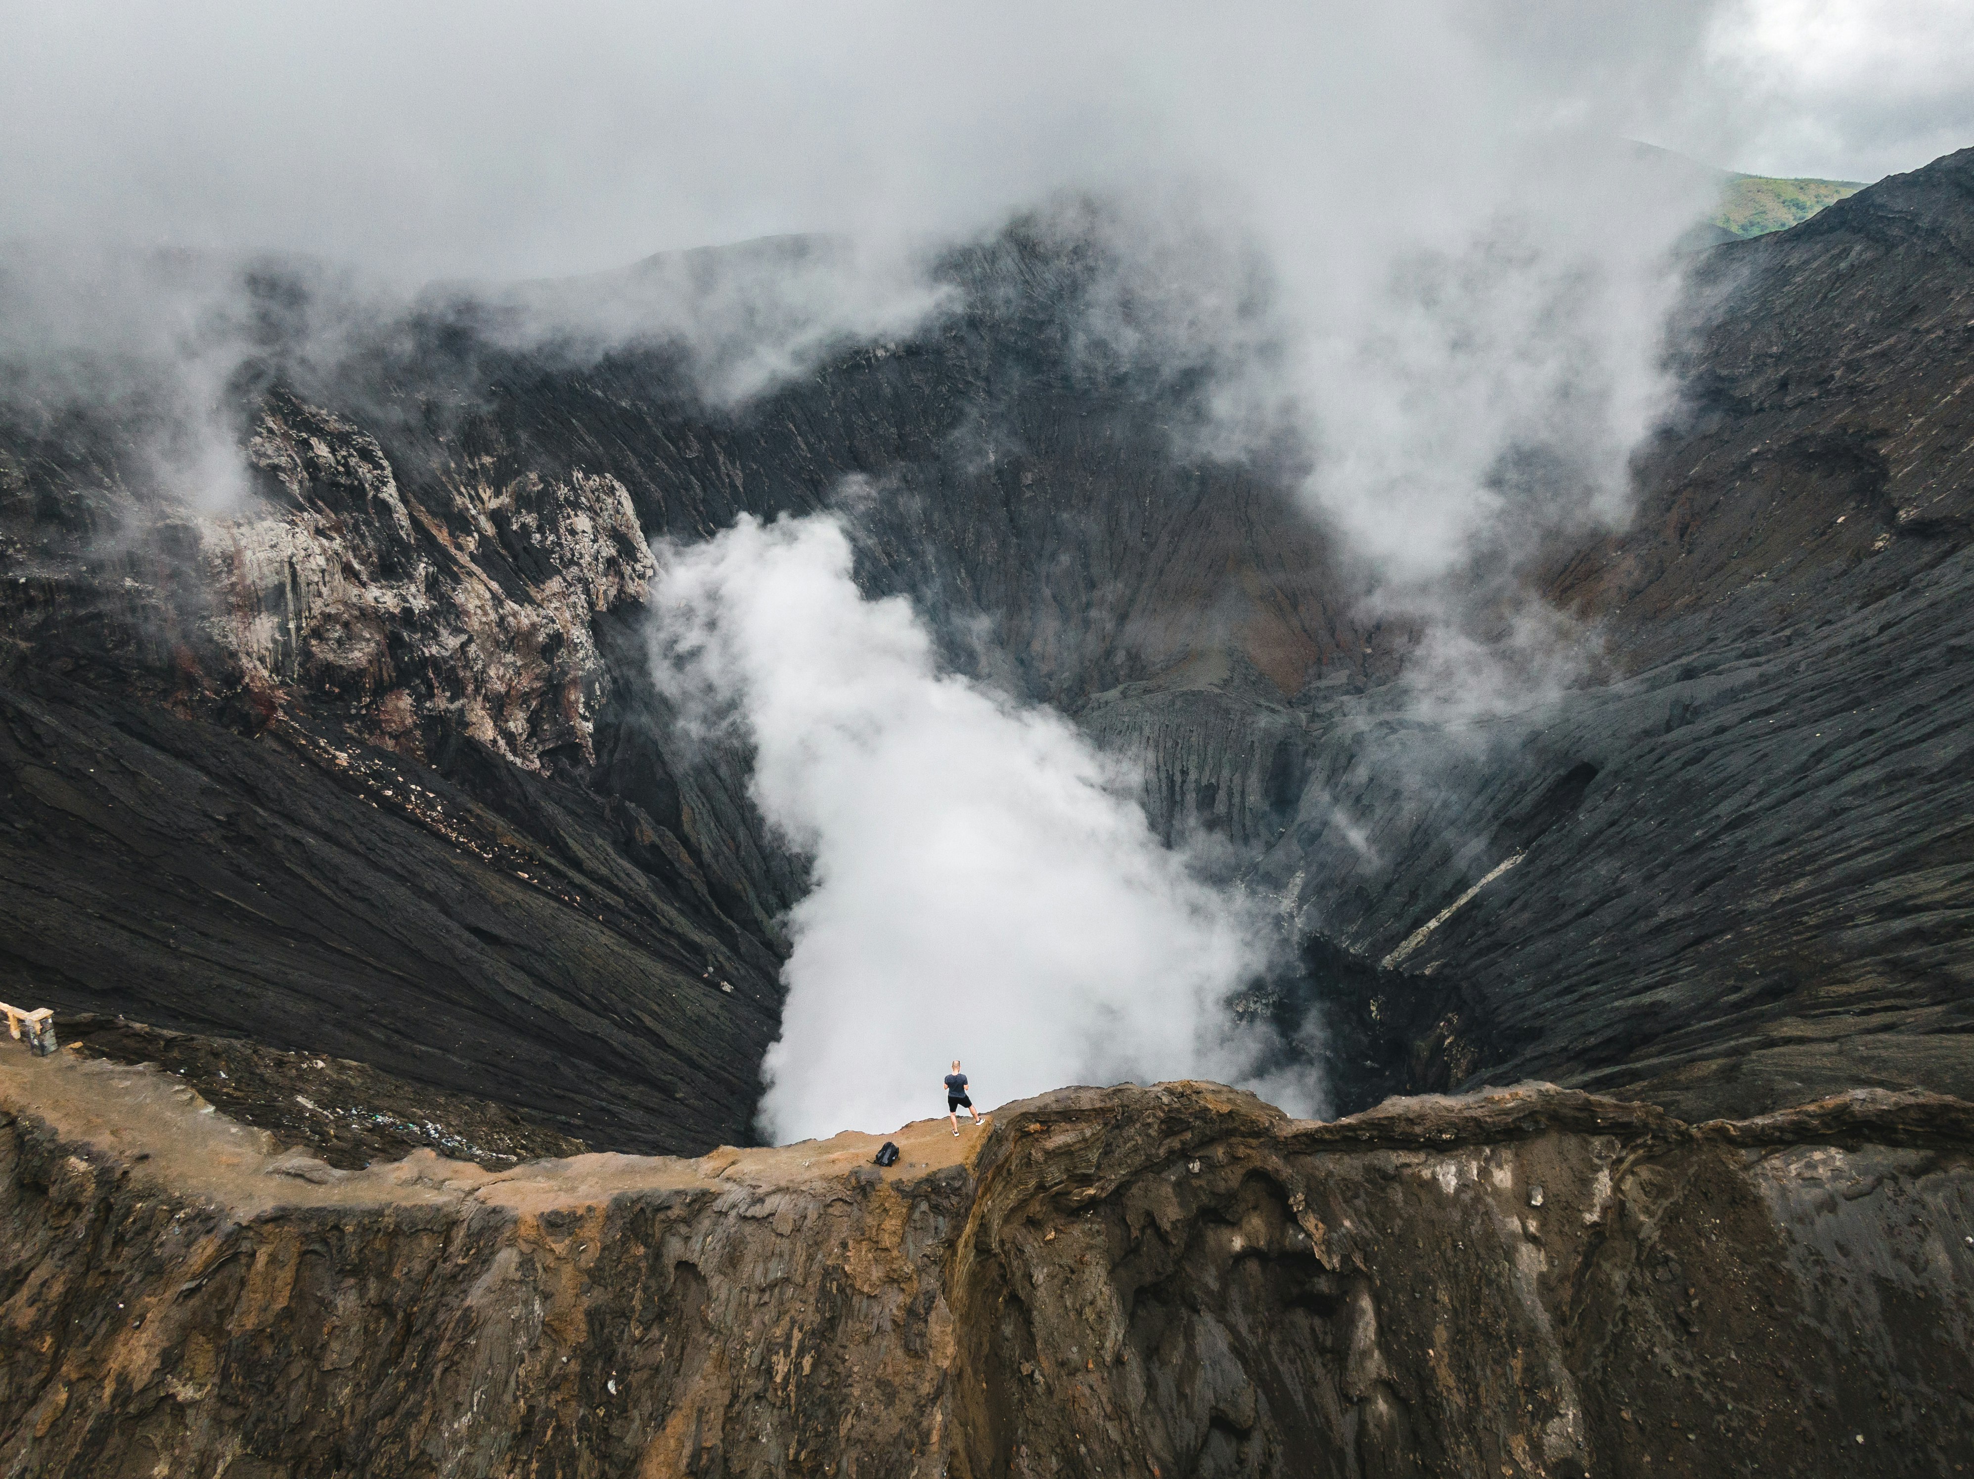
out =
<svg viewBox="0 0 1974 1479"><path fill-rule="evenodd" d="M255 691L336 699L417 758L450 727L529 770L559 748L594 764L610 669L592 624L655 569L616 478L466 464L432 511L373 436L288 395L247 452L278 498L215 517L205 559L213 636Z"/></svg>

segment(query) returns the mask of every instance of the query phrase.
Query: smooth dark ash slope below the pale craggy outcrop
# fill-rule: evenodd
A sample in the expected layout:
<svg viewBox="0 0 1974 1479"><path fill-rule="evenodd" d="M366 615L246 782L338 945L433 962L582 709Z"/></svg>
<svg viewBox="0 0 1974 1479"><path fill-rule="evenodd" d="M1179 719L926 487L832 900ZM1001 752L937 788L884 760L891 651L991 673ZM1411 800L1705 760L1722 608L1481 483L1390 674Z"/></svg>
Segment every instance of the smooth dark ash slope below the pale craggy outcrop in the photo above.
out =
<svg viewBox="0 0 1974 1479"><path fill-rule="evenodd" d="M772 964L602 845L594 796L495 762L503 814L389 750L61 695L0 695L8 999L355 1058L578 1139L746 1137Z"/></svg>

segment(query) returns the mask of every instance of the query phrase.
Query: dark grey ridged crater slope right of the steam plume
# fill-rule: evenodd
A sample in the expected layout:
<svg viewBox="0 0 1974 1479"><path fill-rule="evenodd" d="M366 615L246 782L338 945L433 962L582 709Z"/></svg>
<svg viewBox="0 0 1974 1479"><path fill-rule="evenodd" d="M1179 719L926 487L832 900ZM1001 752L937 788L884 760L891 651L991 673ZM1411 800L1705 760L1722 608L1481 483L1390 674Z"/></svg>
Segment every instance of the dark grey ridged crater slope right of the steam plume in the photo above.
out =
<svg viewBox="0 0 1974 1479"><path fill-rule="evenodd" d="M1263 875L1457 977L1475 1076L1696 1118L1974 1094L1970 243L1962 150L1711 253L1632 527L1550 577L1613 681L1455 727L1311 705Z"/></svg>

